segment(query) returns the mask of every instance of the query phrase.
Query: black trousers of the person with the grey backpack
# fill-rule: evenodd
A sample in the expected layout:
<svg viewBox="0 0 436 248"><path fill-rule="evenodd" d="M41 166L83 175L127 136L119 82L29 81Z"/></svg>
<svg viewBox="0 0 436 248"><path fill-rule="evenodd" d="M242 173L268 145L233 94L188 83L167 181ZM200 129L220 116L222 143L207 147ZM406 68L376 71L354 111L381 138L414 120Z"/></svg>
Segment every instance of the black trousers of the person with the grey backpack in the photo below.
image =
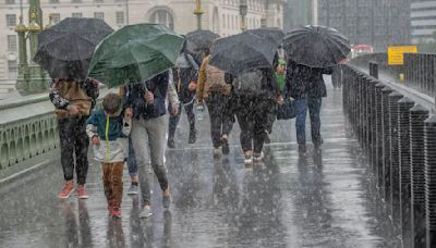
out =
<svg viewBox="0 0 436 248"><path fill-rule="evenodd" d="M261 153L264 148L265 134L268 131L268 116L274 101L270 99L238 97L237 117L241 127L241 146L243 151Z"/></svg>

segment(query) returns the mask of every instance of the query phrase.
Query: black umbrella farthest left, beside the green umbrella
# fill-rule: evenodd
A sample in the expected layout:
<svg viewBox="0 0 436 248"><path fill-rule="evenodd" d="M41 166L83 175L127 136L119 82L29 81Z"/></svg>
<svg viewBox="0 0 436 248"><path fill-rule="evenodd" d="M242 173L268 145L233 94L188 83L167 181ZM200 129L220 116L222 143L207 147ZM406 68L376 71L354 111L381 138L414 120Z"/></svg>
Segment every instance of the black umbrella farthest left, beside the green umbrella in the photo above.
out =
<svg viewBox="0 0 436 248"><path fill-rule="evenodd" d="M53 78L85 79L95 47L112 32L99 18L65 18L38 35L34 61Z"/></svg>

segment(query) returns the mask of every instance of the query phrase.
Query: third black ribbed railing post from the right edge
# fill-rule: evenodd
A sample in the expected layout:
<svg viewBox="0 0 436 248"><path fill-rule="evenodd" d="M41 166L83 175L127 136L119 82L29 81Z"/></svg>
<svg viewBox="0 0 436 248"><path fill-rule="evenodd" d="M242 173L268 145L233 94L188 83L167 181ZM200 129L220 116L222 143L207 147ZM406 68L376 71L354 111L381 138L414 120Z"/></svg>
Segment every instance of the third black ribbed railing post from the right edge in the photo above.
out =
<svg viewBox="0 0 436 248"><path fill-rule="evenodd" d="M404 97L398 101L398 146L400 154L400 204L402 247L412 246L411 178L410 178L410 116L414 102Z"/></svg>

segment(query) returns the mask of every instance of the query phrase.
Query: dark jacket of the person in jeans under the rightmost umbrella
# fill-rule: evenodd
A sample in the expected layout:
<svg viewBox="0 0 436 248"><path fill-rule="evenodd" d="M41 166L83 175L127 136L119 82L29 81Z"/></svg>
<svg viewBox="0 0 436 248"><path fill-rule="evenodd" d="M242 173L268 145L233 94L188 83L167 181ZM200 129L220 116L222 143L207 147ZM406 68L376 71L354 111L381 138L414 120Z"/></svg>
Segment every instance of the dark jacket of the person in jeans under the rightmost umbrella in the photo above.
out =
<svg viewBox="0 0 436 248"><path fill-rule="evenodd" d="M287 88L295 99L327 97L323 74L331 74L332 69L316 69L296 64L292 60L287 67Z"/></svg>

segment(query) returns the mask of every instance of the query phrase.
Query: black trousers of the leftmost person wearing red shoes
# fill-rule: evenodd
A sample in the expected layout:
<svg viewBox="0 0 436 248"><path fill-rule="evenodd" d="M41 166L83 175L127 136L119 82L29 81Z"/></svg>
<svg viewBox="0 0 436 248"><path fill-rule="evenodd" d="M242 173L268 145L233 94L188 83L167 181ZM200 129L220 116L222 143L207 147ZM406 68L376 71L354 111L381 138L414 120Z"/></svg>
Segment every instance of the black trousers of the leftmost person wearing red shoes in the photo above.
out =
<svg viewBox="0 0 436 248"><path fill-rule="evenodd" d="M87 116L58 120L63 178L65 181L73 179L75 168L76 179L80 185L86 183L89 166L87 158L89 138L86 135L86 120Z"/></svg>

